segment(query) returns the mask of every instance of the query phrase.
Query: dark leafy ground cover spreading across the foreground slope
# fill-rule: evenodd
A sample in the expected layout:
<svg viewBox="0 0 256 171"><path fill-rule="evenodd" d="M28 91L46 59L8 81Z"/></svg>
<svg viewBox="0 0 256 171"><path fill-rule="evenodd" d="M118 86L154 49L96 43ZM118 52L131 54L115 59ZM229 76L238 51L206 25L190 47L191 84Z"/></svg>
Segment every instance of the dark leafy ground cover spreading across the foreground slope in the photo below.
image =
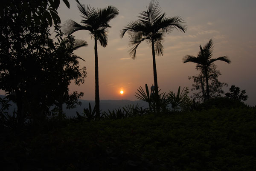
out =
<svg viewBox="0 0 256 171"><path fill-rule="evenodd" d="M4 170L256 170L256 109L251 108L68 122L27 132L2 136Z"/></svg>

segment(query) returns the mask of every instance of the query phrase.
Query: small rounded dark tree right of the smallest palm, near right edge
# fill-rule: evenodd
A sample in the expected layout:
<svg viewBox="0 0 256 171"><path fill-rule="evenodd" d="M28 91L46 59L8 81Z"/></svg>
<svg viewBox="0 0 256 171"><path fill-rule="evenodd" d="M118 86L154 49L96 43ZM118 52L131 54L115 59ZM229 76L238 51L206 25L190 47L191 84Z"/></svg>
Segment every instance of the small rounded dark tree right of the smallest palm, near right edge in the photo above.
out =
<svg viewBox="0 0 256 171"><path fill-rule="evenodd" d="M239 101L245 101L247 100L248 96L245 95L246 91L245 90L240 90L239 87L236 87L235 85L231 85L230 87L230 92L225 94L225 97L230 98L230 99L235 99Z"/></svg>

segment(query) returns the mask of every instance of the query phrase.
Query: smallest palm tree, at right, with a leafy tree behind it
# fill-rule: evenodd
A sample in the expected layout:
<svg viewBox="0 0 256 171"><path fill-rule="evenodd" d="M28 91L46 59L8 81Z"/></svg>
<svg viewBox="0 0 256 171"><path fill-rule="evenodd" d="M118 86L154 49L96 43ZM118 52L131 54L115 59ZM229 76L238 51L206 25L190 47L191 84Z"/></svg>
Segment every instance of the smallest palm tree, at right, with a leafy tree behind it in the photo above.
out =
<svg viewBox="0 0 256 171"><path fill-rule="evenodd" d="M200 51L198 52L198 56L192 56L192 55L186 55L183 57L183 63L192 62L196 63L196 69L200 69L202 74L204 75L204 79L206 81L206 99L210 99L209 94L209 70L211 69L211 64L215 62L216 60L221 60L226 63L231 63L229 57L218 57L218 58L212 58L212 51L213 51L213 42L212 39L209 40L209 42L202 48L200 45ZM203 88L203 85L202 85Z"/></svg>

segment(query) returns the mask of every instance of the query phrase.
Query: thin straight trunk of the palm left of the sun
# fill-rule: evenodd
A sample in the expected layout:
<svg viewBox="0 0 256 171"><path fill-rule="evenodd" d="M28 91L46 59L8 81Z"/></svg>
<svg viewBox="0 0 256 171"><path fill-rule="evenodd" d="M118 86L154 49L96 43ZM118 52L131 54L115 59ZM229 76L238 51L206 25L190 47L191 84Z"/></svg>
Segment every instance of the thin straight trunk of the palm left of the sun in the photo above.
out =
<svg viewBox="0 0 256 171"><path fill-rule="evenodd" d="M95 54L95 108L96 117L99 119L99 66L98 66L98 50L97 37L94 35L94 54Z"/></svg>

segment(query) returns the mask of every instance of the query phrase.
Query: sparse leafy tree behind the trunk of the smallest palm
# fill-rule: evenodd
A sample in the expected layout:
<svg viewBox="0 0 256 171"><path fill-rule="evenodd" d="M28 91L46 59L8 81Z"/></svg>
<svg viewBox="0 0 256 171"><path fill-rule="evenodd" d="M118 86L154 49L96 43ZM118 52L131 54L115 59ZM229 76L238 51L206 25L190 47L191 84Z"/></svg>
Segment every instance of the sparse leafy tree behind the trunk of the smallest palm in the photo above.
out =
<svg viewBox="0 0 256 171"><path fill-rule="evenodd" d="M213 63L208 68L209 94L211 98L221 97L221 94L224 94L222 87L227 86L227 83L221 83L218 81L218 76L221 75L221 72L216 68L217 66ZM201 72L198 75L189 77L189 80L190 79L194 81L191 91L199 90L199 92L194 92L191 97L193 97L194 100L197 99L198 101L205 102L207 100L207 95L205 92L206 80L204 74Z"/></svg>

